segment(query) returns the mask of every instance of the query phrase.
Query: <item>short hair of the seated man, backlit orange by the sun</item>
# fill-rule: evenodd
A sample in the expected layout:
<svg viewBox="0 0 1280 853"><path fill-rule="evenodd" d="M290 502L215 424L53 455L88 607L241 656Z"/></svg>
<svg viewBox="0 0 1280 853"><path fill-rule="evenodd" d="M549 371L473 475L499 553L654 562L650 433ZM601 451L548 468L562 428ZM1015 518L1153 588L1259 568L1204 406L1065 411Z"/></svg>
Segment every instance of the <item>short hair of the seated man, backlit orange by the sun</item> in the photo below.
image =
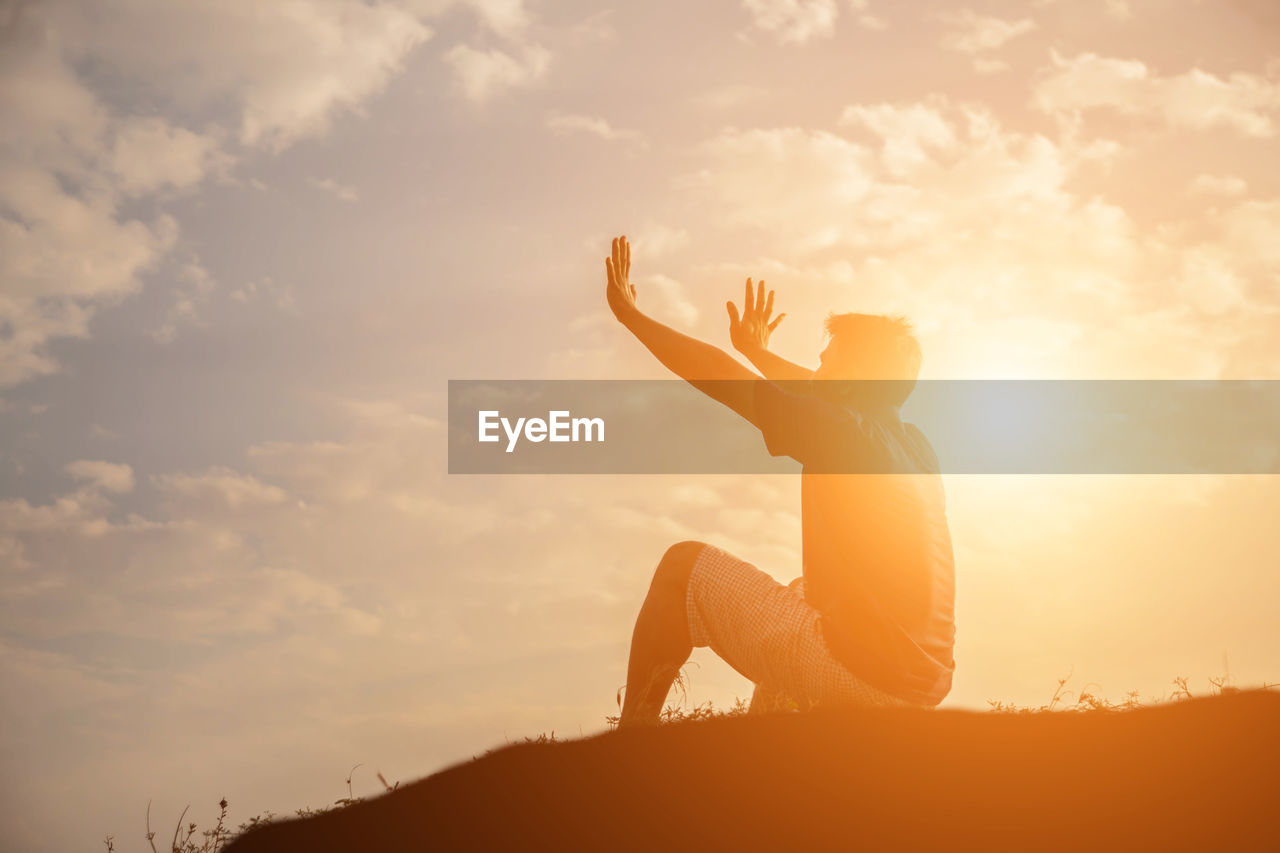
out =
<svg viewBox="0 0 1280 853"><path fill-rule="evenodd" d="M901 406L920 375L920 342L905 316L884 314L828 314L827 336L847 341L852 364L836 365L851 378L892 379L884 383L886 401Z"/></svg>

